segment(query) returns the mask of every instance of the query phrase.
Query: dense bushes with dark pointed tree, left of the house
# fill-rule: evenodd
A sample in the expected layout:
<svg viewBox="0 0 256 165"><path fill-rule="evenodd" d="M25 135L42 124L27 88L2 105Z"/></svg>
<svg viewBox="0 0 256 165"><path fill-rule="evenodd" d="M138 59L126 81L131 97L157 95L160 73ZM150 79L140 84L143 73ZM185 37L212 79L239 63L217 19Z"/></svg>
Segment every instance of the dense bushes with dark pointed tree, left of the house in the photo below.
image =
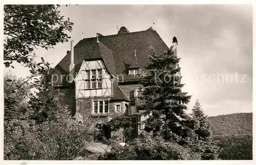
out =
<svg viewBox="0 0 256 165"><path fill-rule="evenodd" d="M11 116L12 110L16 112L4 121L5 159L72 160L81 155L98 134L99 130L92 127L93 120L73 121L68 109L58 106L50 77L46 75L46 85L31 96L27 104L12 102L5 106L5 116ZM11 97L20 97L19 92L12 93ZM5 100L5 104L9 105L9 101ZM26 110L24 115L20 113L23 110Z"/></svg>

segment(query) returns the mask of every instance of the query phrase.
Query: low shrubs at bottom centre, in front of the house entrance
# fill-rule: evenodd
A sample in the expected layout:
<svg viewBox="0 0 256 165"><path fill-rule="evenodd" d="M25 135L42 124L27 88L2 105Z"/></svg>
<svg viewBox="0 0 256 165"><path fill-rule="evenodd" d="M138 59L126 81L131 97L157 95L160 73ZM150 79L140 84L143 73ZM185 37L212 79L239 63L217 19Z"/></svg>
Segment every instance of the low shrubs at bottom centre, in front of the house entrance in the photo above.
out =
<svg viewBox="0 0 256 165"><path fill-rule="evenodd" d="M112 143L111 152L99 156L104 160L195 160L200 155L177 143L166 142L162 137L145 134L124 147Z"/></svg>

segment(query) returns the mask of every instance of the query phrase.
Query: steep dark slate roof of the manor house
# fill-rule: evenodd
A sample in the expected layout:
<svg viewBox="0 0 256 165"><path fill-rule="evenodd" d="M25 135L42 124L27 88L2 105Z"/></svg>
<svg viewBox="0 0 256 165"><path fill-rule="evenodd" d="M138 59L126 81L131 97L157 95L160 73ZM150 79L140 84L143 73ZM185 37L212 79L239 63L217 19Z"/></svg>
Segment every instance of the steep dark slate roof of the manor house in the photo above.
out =
<svg viewBox="0 0 256 165"><path fill-rule="evenodd" d="M168 50L168 46L152 28L139 32L99 36L100 43L96 41L96 37L84 38L74 46L75 73L78 73L83 60L103 59L110 74L122 75L124 82L139 80L143 78L128 75L129 67L134 64L134 51L137 51L138 64L143 67L149 61L151 46L156 54L163 54ZM70 53L55 67L55 74L68 74L69 64ZM142 69L147 72L144 68ZM55 84L61 84L61 82Z"/></svg>

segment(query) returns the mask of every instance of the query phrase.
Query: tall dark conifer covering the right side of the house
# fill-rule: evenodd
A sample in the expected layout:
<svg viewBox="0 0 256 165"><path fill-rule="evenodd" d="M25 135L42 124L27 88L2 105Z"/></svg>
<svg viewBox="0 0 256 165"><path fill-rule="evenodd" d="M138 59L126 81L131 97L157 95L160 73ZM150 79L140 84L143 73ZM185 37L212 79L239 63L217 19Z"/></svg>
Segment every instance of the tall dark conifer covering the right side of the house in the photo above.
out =
<svg viewBox="0 0 256 165"><path fill-rule="evenodd" d="M185 113L191 96L181 90L184 84L181 84L179 76L179 61L173 46L162 55L156 55L151 49L150 63L146 66L150 75L142 83L144 90L141 98L146 100L146 104L141 108L148 115L144 121L145 131L153 131L154 135L161 135L165 140L181 146L195 147L195 121Z"/></svg>

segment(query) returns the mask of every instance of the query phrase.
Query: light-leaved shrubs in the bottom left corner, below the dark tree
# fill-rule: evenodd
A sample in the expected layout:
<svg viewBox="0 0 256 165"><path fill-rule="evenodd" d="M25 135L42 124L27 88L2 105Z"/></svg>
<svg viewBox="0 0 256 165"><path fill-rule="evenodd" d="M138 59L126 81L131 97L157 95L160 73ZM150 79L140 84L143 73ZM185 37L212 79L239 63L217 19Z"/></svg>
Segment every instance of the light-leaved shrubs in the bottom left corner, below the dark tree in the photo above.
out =
<svg viewBox="0 0 256 165"><path fill-rule="evenodd" d="M5 122L4 158L73 160L84 154L84 150L93 142L98 130L91 126L89 119L83 123L71 119L42 124L35 124L33 120Z"/></svg>

